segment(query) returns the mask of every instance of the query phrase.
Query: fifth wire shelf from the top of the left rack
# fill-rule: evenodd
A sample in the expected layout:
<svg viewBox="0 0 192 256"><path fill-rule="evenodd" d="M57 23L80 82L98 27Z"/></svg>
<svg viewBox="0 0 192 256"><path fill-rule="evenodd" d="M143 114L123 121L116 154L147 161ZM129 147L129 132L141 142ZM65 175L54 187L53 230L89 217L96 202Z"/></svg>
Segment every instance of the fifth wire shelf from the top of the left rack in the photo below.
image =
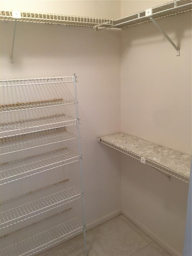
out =
<svg viewBox="0 0 192 256"><path fill-rule="evenodd" d="M76 152L65 148L9 162L7 164L1 164L0 185L14 182L76 161L79 161L79 155Z"/></svg>

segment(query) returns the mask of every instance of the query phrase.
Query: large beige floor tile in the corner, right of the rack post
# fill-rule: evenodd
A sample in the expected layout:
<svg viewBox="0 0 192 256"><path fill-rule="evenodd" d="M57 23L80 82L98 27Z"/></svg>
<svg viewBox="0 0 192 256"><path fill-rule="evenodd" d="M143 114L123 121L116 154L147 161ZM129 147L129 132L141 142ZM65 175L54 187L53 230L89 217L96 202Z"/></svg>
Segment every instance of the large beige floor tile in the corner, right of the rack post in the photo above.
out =
<svg viewBox="0 0 192 256"><path fill-rule="evenodd" d="M86 239L99 256L129 256L149 244L119 216L88 230Z"/></svg>

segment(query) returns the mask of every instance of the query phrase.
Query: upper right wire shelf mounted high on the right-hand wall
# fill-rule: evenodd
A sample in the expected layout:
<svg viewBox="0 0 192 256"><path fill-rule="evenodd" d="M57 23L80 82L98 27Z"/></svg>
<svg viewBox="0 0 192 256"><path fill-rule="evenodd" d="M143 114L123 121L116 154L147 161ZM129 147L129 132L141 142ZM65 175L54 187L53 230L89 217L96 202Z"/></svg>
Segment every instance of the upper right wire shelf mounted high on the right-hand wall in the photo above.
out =
<svg viewBox="0 0 192 256"><path fill-rule="evenodd" d="M191 0L178 0L166 3L164 5L159 5L152 8L153 19L160 19L167 16L172 16L175 14L183 13L192 10ZM145 10L116 19L113 21L113 27L123 29L130 26L135 26L137 24L146 23L151 21L149 17L146 16Z"/></svg>

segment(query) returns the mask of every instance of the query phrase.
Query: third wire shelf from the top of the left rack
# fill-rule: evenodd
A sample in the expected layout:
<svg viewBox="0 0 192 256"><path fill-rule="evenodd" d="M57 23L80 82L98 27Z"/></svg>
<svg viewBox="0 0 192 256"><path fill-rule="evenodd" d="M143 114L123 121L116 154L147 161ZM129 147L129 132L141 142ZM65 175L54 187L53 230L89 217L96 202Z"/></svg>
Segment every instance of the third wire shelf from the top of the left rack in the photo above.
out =
<svg viewBox="0 0 192 256"><path fill-rule="evenodd" d="M0 139L76 125L76 118L64 114L0 124Z"/></svg>

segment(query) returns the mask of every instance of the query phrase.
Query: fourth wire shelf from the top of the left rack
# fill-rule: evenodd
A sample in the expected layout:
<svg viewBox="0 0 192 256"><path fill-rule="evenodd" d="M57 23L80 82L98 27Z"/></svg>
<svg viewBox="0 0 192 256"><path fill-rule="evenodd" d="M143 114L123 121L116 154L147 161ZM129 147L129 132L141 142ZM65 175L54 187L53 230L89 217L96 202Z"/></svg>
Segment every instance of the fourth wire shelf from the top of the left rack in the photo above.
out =
<svg viewBox="0 0 192 256"><path fill-rule="evenodd" d="M20 140L1 143L1 155L52 145L58 142L73 140L77 137L68 131L60 130L46 134L33 135Z"/></svg>

